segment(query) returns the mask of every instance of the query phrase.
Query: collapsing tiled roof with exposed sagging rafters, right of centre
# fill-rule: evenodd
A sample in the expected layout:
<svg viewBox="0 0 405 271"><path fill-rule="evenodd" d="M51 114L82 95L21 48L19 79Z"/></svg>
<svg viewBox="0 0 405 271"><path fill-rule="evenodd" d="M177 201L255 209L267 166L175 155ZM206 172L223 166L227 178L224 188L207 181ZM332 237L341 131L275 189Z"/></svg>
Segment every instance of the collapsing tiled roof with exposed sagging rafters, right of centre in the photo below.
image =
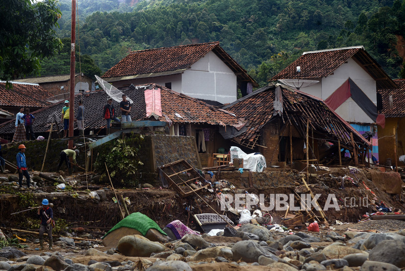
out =
<svg viewBox="0 0 405 271"><path fill-rule="evenodd" d="M341 144L351 147L350 133L353 133L354 141L359 144L369 144L350 124L335 113L324 100L308 95L304 92L293 90L281 84L269 84L253 93L223 106L238 117L245 117L247 131L238 139L245 146L254 147L251 142L257 142L261 128L268 122L278 118L275 113L273 102L275 90L281 88L283 97L283 114L280 117L283 124L291 123L300 131L306 131L306 121L314 131L322 134L324 139L341 140ZM303 137L305 137L303 135ZM250 143L249 143L250 142Z"/></svg>

